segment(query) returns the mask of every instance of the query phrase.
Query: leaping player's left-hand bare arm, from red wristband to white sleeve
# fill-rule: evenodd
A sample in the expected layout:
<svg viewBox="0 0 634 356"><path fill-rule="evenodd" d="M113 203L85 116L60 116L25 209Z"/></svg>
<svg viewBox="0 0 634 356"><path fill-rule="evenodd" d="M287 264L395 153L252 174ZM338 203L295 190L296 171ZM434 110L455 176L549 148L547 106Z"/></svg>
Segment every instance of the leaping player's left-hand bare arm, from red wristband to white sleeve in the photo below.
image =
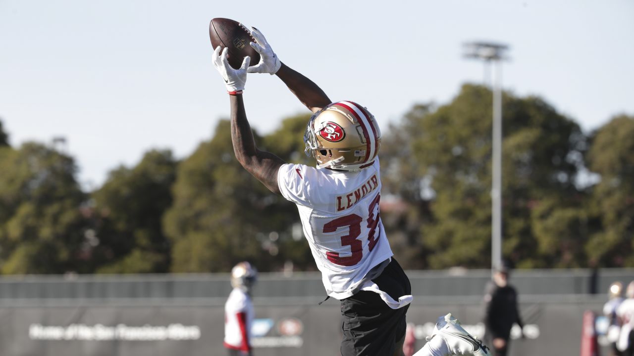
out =
<svg viewBox="0 0 634 356"><path fill-rule="evenodd" d="M285 162L273 153L257 149L249 120L247 120L242 94L231 95L230 100L231 142L236 159L266 188L273 193L281 194L277 174L280 166Z"/></svg>

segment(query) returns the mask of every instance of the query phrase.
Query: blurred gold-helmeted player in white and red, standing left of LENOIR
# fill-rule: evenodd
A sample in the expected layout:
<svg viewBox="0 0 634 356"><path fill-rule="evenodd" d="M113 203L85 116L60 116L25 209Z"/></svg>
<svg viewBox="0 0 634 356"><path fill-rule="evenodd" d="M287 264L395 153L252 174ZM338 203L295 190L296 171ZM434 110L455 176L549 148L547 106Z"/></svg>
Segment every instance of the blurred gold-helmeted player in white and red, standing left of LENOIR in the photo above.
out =
<svg viewBox="0 0 634 356"><path fill-rule="evenodd" d="M257 270L249 262L240 262L231 269L231 291L224 303L224 348L230 356L253 355L251 326L254 319L251 290Z"/></svg>

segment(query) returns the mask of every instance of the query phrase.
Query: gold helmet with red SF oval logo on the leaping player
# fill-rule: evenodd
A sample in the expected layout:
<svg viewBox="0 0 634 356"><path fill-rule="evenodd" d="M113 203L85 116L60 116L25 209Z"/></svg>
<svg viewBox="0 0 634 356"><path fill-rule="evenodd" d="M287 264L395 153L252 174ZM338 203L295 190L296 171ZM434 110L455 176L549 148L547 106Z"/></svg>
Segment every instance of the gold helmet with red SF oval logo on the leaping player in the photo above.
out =
<svg viewBox="0 0 634 356"><path fill-rule="evenodd" d="M377 120L352 101L332 103L313 114L304 133L306 155L318 168L356 171L374 163L381 144Z"/></svg>

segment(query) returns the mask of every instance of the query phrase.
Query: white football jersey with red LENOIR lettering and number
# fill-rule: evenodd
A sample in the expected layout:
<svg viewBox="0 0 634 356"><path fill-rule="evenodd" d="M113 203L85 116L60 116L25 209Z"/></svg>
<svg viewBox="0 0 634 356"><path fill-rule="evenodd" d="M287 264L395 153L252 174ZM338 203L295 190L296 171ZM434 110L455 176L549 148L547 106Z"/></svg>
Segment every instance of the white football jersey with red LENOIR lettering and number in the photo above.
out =
<svg viewBox="0 0 634 356"><path fill-rule="evenodd" d="M297 205L327 295L353 295L368 271L392 256L378 209L378 158L359 172L285 164L278 185Z"/></svg>

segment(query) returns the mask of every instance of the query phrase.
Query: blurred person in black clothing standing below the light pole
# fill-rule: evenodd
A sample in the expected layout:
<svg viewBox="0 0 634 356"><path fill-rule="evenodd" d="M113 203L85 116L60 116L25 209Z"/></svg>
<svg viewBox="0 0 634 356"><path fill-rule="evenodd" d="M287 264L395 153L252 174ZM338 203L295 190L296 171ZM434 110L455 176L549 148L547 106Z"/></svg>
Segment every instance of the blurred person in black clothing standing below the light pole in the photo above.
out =
<svg viewBox="0 0 634 356"><path fill-rule="evenodd" d="M524 327L517 307L517 291L508 284L510 269L510 264L503 262L495 270L493 281L484 293L484 340L493 347L496 356L507 355L513 324Z"/></svg>

